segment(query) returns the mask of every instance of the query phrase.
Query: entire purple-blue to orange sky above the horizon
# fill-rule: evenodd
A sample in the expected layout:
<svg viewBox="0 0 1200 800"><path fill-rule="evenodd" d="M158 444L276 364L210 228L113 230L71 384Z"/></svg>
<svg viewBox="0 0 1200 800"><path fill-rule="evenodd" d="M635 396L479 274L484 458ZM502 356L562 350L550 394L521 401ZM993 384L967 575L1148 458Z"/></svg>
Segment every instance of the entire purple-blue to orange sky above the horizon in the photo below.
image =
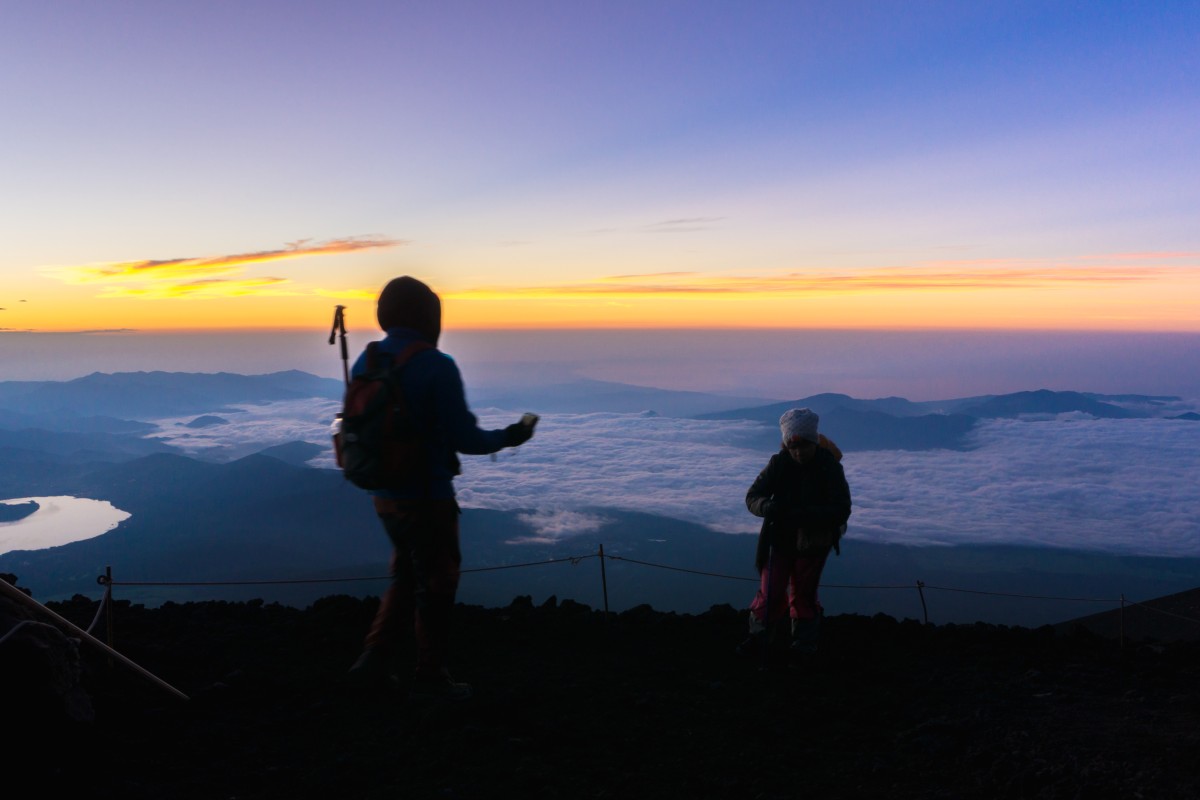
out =
<svg viewBox="0 0 1200 800"><path fill-rule="evenodd" d="M0 5L0 329L1200 332L1200 4Z"/></svg>

